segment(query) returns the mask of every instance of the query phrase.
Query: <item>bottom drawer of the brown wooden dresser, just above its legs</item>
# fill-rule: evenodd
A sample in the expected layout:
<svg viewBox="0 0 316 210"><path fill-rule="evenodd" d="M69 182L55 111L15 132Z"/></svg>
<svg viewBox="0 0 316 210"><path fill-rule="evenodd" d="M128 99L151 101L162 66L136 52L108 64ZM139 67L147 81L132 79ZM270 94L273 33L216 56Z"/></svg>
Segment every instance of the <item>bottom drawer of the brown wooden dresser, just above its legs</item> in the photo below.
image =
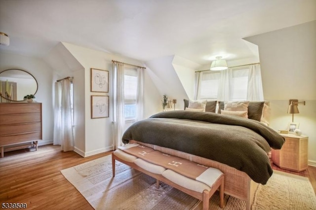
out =
<svg viewBox="0 0 316 210"><path fill-rule="evenodd" d="M28 134L0 136L0 146L22 143L31 140L41 140L41 131Z"/></svg>

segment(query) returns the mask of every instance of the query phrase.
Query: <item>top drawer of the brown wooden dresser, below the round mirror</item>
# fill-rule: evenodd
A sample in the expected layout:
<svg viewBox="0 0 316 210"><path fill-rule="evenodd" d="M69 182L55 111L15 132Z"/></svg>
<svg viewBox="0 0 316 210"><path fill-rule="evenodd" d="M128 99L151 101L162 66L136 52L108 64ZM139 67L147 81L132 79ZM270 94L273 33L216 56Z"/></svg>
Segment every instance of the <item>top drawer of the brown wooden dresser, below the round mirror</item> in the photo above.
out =
<svg viewBox="0 0 316 210"><path fill-rule="evenodd" d="M41 104L36 104L36 103L0 104L0 114L19 114L19 113L37 113L37 112L41 112Z"/></svg>

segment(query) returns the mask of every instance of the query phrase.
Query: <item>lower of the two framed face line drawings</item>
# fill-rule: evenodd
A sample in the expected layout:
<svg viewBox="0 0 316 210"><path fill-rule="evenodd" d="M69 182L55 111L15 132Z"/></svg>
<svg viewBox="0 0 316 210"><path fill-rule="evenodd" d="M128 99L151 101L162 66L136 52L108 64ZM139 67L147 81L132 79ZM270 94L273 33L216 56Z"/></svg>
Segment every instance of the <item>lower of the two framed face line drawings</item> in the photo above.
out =
<svg viewBox="0 0 316 210"><path fill-rule="evenodd" d="M109 96L91 96L91 119L109 117Z"/></svg>

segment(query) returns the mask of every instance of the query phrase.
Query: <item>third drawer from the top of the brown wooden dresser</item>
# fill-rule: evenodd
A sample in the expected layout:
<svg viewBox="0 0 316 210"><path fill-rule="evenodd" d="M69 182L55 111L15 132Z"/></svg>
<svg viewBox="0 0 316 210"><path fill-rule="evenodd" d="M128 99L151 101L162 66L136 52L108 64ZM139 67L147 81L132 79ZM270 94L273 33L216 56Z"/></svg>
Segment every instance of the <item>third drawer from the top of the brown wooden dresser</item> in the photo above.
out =
<svg viewBox="0 0 316 210"><path fill-rule="evenodd" d="M15 124L15 125L0 125L0 136L8 135L8 134L19 134L19 133L27 133L32 131L40 131L41 123L23 123L23 124Z"/></svg>

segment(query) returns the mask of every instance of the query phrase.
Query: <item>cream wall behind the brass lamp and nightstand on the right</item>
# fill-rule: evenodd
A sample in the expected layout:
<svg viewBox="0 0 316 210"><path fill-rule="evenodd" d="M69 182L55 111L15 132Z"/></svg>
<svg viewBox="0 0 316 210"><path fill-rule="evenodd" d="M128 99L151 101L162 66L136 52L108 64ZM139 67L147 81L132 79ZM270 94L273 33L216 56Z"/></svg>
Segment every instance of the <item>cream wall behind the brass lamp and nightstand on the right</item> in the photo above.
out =
<svg viewBox="0 0 316 210"><path fill-rule="evenodd" d="M271 127L286 129L289 99L299 105L294 121L309 136L309 164L316 165L316 21L247 37L259 46L264 98L271 105Z"/></svg>

